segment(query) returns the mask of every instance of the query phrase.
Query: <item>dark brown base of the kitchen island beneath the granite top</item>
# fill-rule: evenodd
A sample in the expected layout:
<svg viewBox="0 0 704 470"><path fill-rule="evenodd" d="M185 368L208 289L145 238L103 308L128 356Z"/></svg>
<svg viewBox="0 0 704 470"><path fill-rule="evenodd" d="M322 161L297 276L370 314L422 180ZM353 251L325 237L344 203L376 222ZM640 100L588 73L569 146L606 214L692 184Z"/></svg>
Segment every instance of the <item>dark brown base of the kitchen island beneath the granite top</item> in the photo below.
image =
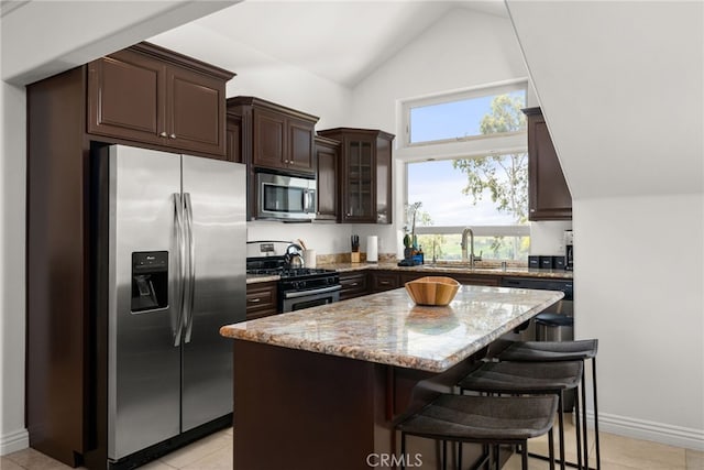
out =
<svg viewBox="0 0 704 470"><path fill-rule="evenodd" d="M438 393L452 393L454 384L480 359L468 358L444 372L432 373L252 341L233 342L233 468L246 470L380 467L380 456L400 453L395 426ZM238 407L238 403L250 406ZM413 456L421 456L424 469L439 468L436 441L409 437L408 446ZM481 450L479 445L463 445L464 461L474 461ZM454 458L450 460L457 464Z"/></svg>

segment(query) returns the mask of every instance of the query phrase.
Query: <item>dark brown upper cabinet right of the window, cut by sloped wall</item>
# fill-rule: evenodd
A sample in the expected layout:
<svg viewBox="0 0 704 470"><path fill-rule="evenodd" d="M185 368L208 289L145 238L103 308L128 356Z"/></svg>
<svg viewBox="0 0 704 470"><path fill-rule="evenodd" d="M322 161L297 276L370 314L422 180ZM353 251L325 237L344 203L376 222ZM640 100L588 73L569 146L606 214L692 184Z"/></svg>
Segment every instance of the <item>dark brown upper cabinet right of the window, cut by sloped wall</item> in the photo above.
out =
<svg viewBox="0 0 704 470"><path fill-rule="evenodd" d="M572 195L540 108L528 118L528 219L572 220Z"/></svg>

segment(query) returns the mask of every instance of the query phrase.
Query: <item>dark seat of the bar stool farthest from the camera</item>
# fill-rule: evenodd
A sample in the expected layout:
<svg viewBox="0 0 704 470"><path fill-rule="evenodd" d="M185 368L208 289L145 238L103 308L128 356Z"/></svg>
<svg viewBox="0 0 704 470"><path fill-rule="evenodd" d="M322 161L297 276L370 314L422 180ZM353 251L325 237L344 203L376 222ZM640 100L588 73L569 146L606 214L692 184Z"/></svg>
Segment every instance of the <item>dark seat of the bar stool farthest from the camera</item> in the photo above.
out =
<svg viewBox="0 0 704 470"><path fill-rule="evenodd" d="M502 361L575 361L596 357L598 340L516 341L498 354Z"/></svg>

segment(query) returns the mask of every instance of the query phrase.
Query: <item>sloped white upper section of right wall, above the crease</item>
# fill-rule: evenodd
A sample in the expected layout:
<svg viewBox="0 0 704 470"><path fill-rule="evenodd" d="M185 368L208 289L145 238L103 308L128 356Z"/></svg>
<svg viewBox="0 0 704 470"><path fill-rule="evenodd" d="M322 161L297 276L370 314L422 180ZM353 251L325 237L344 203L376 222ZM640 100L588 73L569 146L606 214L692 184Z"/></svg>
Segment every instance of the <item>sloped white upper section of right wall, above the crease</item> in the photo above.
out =
<svg viewBox="0 0 704 470"><path fill-rule="evenodd" d="M704 193L703 2L508 10L573 198Z"/></svg>

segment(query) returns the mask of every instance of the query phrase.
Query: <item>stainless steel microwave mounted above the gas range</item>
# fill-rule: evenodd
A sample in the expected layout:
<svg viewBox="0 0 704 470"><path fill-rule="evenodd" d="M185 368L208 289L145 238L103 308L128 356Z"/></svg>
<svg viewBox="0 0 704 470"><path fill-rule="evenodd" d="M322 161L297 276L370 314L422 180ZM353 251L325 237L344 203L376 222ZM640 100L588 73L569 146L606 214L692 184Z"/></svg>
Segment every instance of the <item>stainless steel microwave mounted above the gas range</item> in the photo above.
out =
<svg viewBox="0 0 704 470"><path fill-rule="evenodd" d="M256 218L305 221L316 218L316 181L260 172Z"/></svg>

